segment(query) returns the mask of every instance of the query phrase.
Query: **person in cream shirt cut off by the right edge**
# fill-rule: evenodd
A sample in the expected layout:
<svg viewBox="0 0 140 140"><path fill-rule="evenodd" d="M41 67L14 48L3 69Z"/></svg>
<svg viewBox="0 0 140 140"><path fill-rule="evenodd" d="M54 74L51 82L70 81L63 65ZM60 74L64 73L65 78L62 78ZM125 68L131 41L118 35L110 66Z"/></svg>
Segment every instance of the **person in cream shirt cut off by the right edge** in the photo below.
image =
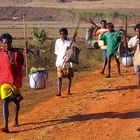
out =
<svg viewBox="0 0 140 140"><path fill-rule="evenodd" d="M128 48L134 50L133 64L138 76L138 86L140 87L140 23L135 25L134 31L136 35L129 40Z"/></svg>

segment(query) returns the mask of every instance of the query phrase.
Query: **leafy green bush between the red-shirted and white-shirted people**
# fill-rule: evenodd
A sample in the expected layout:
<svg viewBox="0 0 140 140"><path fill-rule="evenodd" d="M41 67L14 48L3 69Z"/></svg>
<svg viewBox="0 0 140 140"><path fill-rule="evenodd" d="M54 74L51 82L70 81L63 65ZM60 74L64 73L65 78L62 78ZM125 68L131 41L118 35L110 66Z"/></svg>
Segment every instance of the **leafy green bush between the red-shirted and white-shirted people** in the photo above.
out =
<svg viewBox="0 0 140 140"><path fill-rule="evenodd" d="M28 44L28 65L29 67L48 67L52 61L53 47L46 41L47 33L44 30L39 31L33 28L32 36L34 44Z"/></svg>

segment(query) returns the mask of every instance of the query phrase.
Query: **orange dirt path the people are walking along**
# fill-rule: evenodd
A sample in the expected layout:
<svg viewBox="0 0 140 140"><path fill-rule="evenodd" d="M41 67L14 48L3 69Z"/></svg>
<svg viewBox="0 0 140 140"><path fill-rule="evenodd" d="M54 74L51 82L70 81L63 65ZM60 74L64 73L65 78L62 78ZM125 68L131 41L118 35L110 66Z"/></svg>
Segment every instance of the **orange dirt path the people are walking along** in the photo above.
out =
<svg viewBox="0 0 140 140"><path fill-rule="evenodd" d="M106 79L88 72L73 95L53 97L20 116L20 126L0 140L139 140L140 89L133 67Z"/></svg>

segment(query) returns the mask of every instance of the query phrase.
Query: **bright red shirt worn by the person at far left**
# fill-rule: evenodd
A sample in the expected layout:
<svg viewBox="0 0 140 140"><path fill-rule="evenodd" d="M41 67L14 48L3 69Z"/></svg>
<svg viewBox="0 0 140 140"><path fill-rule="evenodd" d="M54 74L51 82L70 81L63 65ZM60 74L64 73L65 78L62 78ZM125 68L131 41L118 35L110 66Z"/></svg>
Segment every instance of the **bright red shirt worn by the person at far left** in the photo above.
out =
<svg viewBox="0 0 140 140"><path fill-rule="evenodd" d="M12 50L14 60L10 62L8 53L0 50L0 85L3 83L14 84L17 88L22 86L23 53L17 49Z"/></svg>

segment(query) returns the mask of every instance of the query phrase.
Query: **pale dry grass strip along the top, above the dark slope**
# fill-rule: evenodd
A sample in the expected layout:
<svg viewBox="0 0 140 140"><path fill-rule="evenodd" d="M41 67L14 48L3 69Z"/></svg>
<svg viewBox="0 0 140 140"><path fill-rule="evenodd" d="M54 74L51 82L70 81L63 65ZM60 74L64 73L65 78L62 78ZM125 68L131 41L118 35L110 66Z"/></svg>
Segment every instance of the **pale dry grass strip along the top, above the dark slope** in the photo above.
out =
<svg viewBox="0 0 140 140"><path fill-rule="evenodd" d="M46 7L61 9L139 9L140 1L138 0L101 0L101 1L72 1L66 3L50 2L48 0L34 1L2 1L0 6L23 6L23 7Z"/></svg>

